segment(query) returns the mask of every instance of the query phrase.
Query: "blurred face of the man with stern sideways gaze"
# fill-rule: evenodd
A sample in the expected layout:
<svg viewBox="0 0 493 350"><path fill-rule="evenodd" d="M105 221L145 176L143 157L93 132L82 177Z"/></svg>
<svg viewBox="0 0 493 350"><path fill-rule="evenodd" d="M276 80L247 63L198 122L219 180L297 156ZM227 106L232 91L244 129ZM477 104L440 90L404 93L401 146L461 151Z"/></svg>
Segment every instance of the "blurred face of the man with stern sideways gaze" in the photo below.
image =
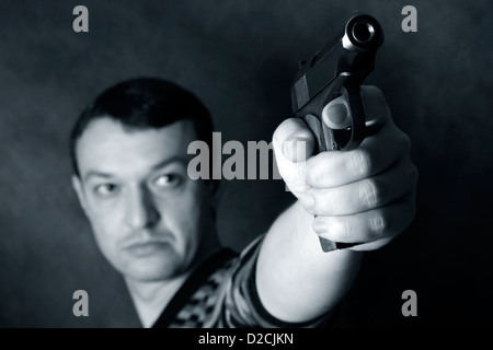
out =
<svg viewBox="0 0 493 350"><path fill-rule="evenodd" d="M73 187L103 255L127 278L183 272L213 232L207 184L186 172L195 139L187 120L129 131L103 117L77 143Z"/></svg>

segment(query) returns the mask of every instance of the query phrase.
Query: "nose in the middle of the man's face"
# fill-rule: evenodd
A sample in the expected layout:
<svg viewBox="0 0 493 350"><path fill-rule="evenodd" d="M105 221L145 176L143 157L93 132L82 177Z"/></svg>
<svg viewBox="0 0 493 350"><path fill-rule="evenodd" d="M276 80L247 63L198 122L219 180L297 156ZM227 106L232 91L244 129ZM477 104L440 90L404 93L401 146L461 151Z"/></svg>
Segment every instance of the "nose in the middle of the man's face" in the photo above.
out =
<svg viewBox="0 0 493 350"><path fill-rule="evenodd" d="M150 191L145 187L131 189L125 218L127 224L134 230L146 229L154 225L159 219L160 213Z"/></svg>

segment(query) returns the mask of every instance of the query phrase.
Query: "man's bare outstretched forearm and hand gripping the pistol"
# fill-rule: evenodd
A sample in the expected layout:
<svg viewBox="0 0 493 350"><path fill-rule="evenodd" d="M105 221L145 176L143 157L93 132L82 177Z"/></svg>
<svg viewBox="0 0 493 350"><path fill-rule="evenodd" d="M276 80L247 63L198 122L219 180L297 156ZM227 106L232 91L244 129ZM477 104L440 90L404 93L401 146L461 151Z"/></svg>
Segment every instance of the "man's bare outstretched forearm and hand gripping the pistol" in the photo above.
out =
<svg viewBox="0 0 493 350"><path fill-rule="evenodd" d="M274 133L279 173L298 200L265 236L256 285L264 307L282 320L329 312L356 277L360 252L388 244L414 217L417 172L409 137L393 124L378 89L362 86L362 96L367 118L383 125L356 150L312 155L314 139L300 119L285 120ZM325 109L326 124L346 117L340 98ZM324 253L318 236L367 243Z"/></svg>

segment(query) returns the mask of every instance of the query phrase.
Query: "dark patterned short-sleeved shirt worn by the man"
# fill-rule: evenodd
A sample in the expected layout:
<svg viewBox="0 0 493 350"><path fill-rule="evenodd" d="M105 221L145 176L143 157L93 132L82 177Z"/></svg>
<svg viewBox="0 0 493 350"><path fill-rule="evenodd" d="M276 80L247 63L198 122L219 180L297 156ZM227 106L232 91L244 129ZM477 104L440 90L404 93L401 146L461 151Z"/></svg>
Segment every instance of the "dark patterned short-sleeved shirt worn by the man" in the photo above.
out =
<svg viewBox="0 0 493 350"><path fill-rule="evenodd" d="M260 301L255 265L264 235L241 254L222 248L196 268L172 298L152 328L293 328L320 327L311 322L286 323L271 315Z"/></svg>

